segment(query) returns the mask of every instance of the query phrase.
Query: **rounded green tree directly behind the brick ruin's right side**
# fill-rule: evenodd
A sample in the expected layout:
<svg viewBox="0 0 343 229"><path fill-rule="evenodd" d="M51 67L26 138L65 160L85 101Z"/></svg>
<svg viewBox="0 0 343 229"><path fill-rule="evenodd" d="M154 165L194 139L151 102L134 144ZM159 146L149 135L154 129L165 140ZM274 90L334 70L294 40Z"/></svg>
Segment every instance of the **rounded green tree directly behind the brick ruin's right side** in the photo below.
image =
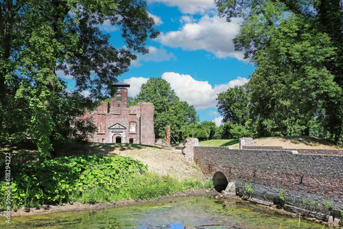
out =
<svg viewBox="0 0 343 229"><path fill-rule="evenodd" d="M162 78L150 78L142 84L134 104L139 101L154 104L156 138L165 138L167 126L171 125L171 135L180 141L185 130L183 127L199 121L195 108L186 101L180 101L170 84Z"/></svg>

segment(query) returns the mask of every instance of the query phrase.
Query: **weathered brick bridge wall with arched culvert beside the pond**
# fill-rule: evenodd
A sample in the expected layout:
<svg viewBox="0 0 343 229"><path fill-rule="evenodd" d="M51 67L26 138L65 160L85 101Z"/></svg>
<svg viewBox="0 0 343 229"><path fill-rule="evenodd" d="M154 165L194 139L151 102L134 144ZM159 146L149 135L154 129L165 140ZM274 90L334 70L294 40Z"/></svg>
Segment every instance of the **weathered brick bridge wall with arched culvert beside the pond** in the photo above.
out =
<svg viewBox="0 0 343 229"><path fill-rule="evenodd" d="M259 197L279 199L285 189L286 202L303 206L307 200L316 206L343 210L343 156L297 154L292 151L194 147L194 161L206 176L217 171L235 182L242 195L248 182Z"/></svg>

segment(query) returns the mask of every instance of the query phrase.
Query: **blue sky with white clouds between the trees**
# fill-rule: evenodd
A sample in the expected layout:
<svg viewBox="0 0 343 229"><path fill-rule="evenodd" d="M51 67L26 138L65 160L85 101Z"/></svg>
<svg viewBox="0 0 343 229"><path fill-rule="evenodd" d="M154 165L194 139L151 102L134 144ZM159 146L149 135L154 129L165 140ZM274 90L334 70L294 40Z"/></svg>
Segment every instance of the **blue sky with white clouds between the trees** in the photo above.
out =
<svg viewBox="0 0 343 229"><path fill-rule="evenodd" d="M200 121L220 125L217 94L245 84L255 71L233 47L239 19L228 23L217 16L213 0L147 0L147 10L161 34L147 40L150 52L118 77L130 84L128 96L138 95L150 77L161 77L181 101L196 108ZM105 21L99 28L110 34L115 47L123 45L118 27Z"/></svg>

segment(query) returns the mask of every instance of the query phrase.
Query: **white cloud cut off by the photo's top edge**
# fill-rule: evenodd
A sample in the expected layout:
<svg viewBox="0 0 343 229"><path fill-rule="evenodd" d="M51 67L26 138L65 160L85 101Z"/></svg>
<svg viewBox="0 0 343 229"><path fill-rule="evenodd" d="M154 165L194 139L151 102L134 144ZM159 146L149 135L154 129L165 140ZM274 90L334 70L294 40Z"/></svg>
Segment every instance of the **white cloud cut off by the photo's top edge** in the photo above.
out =
<svg viewBox="0 0 343 229"><path fill-rule="evenodd" d="M183 14L204 13L215 8L213 0L147 0L177 6Z"/></svg>

